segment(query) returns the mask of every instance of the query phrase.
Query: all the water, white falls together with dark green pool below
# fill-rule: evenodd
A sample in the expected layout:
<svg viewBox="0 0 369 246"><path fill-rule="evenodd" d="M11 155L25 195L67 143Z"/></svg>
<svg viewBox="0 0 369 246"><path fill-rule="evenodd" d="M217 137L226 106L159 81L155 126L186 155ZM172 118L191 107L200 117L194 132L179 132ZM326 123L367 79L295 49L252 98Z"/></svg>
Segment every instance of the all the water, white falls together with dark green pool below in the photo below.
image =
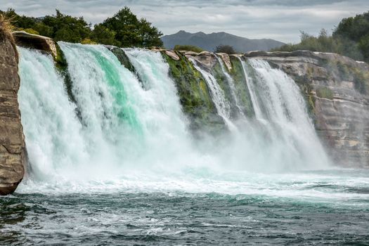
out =
<svg viewBox="0 0 369 246"><path fill-rule="evenodd" d="M124 50L130 72L103 46L60 47L69 94L51 56L19 48L31 166L0 198L0 243L368 243L369 172L332 167L282 71L241 60L255 115L240 124L193 61L231 129L194 139L160 53Z"/></svg>

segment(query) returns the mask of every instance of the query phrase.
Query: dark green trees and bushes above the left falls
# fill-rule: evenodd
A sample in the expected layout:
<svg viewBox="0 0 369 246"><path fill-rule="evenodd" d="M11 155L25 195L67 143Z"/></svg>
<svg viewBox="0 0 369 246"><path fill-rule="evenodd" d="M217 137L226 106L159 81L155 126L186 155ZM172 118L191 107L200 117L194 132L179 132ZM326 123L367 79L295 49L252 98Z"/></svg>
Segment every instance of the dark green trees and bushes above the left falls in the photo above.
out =
<svg viewBox="0 0 369 246"><path fill-rule="evenodd" d="M72 17L56 10L56 15L33 18L18 15L12 8L0 11L11 18L15 30L51 37L56 41L82 44L108 44L121 47L162 46L162 32L144 18L138 19L128 7L91 29L83 17Z"/></svg>

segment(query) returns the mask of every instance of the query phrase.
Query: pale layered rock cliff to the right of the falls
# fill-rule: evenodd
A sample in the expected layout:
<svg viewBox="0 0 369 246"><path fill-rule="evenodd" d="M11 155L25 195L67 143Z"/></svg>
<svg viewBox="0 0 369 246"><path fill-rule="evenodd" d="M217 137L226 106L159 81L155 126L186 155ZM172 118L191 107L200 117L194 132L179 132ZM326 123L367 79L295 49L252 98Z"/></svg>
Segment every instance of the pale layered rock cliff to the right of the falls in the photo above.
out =
<svg viewBox="0 0 369 246"><path fill-rule="evenodd" d="M251 52L299 84L336 164L369 167L369 65L333 53Z"/></svg>

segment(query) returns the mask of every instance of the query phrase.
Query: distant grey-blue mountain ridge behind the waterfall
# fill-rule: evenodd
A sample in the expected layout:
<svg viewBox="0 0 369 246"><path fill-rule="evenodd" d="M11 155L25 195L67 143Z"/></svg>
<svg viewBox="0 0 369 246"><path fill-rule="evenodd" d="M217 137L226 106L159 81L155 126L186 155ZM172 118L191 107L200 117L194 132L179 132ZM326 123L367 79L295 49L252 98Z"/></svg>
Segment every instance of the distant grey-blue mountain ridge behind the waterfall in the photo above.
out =
<svg viewBox="0 0 369 246"><path fill-rule="evenodd" d="M274 39L246 39L226 32L190 33L179 31L176 34L162 37L165 48L173 48L176 44L190 44L199 46L207 51L214 51L220 44L233 46L235 51L245 53L247 51L268 51L271 48L283 46L284 43Z"/></svg>

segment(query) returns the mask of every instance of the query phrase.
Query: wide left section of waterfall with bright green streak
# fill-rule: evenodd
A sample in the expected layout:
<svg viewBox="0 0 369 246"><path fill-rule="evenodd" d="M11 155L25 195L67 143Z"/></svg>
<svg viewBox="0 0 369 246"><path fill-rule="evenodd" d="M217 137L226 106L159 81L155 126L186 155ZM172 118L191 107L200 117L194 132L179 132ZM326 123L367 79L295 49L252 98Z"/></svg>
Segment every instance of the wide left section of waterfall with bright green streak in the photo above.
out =
<svg viewBox="0 0 369 246"><path fill-rule="evenodd" d="M188 153L188 123L160 53L126 51L148 84L144 89L107 48L59 45L75 103L68 101L51 56L18 48L22 122L40 179L100 179L148 162L181 162L173 156Z"/></svg>

